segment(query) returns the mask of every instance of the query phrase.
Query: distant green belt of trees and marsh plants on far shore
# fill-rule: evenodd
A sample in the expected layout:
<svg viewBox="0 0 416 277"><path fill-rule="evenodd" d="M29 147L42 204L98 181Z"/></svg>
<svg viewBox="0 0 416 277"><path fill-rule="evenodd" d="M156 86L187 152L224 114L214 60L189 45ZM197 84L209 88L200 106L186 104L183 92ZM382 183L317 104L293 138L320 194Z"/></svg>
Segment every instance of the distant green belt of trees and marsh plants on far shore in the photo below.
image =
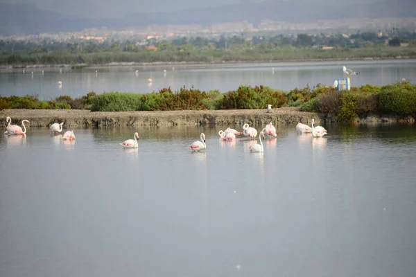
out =
<svg viewBox="0 0 416 277"><path fill-rule="evenodd" d="M415 56L416 33L399 33L398 30L385 35L372 32L295 36L271 33L248 37L242 33L125 42L114 39L71 43L48 39L34 42L0 40L0 64L72 64L73 69L82 69L85 64L114 62L271 62Z"/></svg>

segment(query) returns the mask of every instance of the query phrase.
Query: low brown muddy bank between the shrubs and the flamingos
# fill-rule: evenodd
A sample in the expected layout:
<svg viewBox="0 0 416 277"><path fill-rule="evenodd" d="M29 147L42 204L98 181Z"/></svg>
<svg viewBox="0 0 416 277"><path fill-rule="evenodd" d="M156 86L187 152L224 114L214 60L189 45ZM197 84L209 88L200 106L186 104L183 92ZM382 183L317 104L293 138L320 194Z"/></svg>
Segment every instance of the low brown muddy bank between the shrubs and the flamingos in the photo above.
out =
<svg viewBox="0 0 416 277"><path fill-rule="evenodd" d="M234 109L220 111L96 111L55 109L5 109L0 111L0 127L6 127L6 117L13 124L21 120L31 121L31 127L49 127L55 122L64 122L65 127L125 127L125 126L173 126L173 125L296 125L336 123L335 116L300 111L299 107L273 109ZM415 123L413 117L367 115L356 118L355 123Z"/></svg>

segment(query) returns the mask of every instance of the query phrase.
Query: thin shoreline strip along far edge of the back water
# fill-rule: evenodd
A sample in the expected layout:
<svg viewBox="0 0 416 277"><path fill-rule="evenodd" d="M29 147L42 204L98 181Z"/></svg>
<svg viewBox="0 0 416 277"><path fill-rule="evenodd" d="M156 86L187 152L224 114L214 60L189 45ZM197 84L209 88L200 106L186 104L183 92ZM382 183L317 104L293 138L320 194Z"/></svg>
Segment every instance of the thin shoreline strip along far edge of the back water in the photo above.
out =
<svg viewBox="0 0 416 277"><path fill-rule="evenodd" d="M15 71L16 69L99 69L99 68L125 68L125 67L162 67L162 66L209 66L218 64L278 64L284 62L354 62L354 61L377 61L377 60L416 60L416 56L396 57L354 57L354 58L328 58L328 59L288 59L288 60L258 60L258 61L227 61L227 62L111 62L108 64L12 64L0 65L1 72Z"/></svg>

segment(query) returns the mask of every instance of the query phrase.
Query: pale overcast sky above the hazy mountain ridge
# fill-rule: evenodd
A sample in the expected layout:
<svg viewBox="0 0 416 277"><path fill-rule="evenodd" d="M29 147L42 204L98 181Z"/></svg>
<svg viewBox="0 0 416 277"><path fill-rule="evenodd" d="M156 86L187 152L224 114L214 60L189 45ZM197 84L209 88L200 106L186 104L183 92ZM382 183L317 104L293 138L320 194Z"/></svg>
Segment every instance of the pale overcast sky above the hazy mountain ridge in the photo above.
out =
<svg viewBox="0 0 416 277"><path fill-rule="evenodd" d="M207 8L247 1L262 0L0 0L0 3L31 3L42 10L81 17L123 17L133 12L168 12L190 8ZM311 3L341 3L343 0L269 0L302 1ZM349 2L376 0L349 0ZM393 1L393 0L392 0Z"/></svg>

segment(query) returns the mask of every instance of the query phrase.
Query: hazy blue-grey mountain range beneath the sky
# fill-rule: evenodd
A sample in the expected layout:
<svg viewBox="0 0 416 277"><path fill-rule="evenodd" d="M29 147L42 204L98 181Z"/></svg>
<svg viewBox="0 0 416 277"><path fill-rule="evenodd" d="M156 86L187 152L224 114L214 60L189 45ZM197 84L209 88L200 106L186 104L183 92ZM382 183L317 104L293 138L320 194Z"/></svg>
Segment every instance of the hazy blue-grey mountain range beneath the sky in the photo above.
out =
<svg viewBox="0 0 416 277"><path fill-rule="evenodd" d="M306 0L238 3L180 12L136 13L120 19L88 19L40 10L28 4L0 4L0 35L77 31L83 28L125 28L150 24L218 24L263 19L314 21L322 19L416 17L414 0L381 0L375 3L311 3Z"/></svg>

